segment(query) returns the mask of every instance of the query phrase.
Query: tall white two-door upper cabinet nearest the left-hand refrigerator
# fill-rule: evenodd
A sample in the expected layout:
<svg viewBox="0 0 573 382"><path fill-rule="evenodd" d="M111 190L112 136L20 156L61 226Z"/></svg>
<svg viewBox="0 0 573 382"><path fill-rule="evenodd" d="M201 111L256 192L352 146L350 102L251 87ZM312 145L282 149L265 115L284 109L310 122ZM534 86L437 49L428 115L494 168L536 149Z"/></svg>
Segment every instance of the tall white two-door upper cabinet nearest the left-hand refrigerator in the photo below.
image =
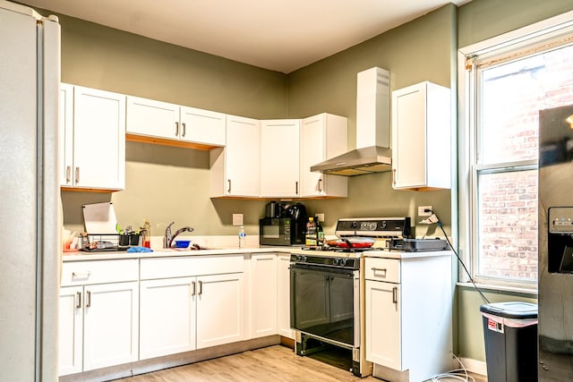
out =
<svg viewBox="0 0 573 382"><path fill-rule="evenodd" d="M63 85L60 97L64 140L61 185L66 189L123 190L125 96Z"/></svg>

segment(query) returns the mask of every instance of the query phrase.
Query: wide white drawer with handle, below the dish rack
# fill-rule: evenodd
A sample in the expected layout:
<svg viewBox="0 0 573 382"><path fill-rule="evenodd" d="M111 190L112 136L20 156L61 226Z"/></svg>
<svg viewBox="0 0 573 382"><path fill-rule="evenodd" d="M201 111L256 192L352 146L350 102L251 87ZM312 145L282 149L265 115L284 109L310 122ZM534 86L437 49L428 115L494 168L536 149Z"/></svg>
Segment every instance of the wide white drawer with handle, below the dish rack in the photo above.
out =
<svg viewBox="0 0 573 382"><path fill-rule="evenodd" d="M68 261L62 286L117 283L139 279L139 259Z"/></svg>

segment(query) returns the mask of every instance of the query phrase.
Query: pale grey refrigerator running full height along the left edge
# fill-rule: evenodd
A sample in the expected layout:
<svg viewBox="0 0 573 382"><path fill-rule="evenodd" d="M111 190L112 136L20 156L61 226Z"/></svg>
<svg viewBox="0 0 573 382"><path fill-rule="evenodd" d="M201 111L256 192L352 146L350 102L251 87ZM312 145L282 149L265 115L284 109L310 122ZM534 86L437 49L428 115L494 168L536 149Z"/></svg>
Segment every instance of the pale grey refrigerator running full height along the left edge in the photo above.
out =
<svg viewBox="0 0 573 382"><path fill-rule="evenodd" d="M57 380L60 26L0 0L0 379Z"/></svg>

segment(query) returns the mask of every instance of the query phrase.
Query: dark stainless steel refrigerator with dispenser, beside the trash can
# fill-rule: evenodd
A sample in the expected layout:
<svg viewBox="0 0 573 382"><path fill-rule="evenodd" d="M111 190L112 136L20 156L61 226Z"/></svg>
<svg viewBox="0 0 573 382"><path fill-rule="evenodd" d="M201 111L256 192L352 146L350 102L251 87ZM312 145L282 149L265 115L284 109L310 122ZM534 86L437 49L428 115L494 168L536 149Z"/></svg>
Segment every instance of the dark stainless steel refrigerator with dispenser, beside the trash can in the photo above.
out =
<svg viewBox="0 0 573 382"><path fill-rule="evenodd" d="M573 380L573 105L539 112L540 381Z"/></svg>

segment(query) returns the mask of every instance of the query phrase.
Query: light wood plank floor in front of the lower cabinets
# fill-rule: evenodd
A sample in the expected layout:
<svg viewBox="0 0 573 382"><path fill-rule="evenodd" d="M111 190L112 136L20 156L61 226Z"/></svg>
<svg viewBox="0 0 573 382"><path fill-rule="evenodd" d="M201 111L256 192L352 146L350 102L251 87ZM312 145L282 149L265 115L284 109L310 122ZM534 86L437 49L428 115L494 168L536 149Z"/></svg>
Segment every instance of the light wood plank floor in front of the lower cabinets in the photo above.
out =
<svg viewBox="0 0 573 382"><path fill-rule="evenodd" d="M441 379L443 380L443 379ZM452 379L453 380L453 379ZM269 346L241 352L210 361L201 361L140 376L116 379L122 382L181 381L277 381L277 382L380 382L381 379L357 378L345 369L338 369L310 357L299 357L285 346ZM485 381L485 379L476 379Z"/></svg>

